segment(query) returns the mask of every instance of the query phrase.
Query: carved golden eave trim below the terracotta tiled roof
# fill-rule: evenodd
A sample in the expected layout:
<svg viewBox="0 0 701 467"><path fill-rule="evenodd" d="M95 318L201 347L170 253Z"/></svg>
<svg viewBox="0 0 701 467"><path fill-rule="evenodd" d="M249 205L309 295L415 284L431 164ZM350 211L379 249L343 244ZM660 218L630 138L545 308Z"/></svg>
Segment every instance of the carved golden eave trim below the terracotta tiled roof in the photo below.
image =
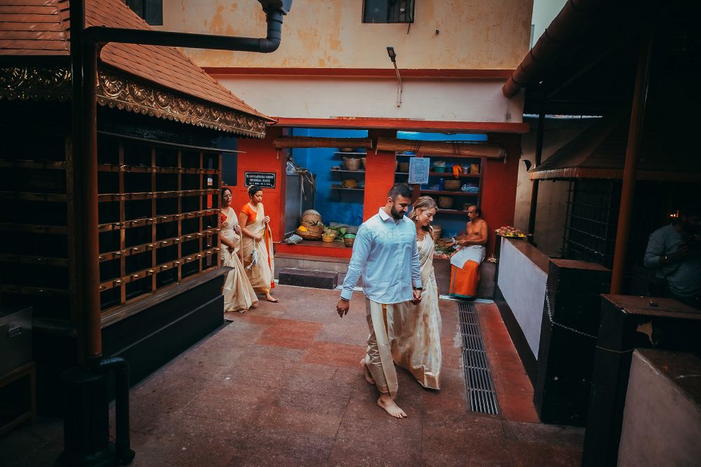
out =
<svg viewBox="0 0 701 467"><path fill-rule="evenodd" d="M0 99L71 98L71 71L64 68L0 67ZM222 132L264 138L266 119L98 69L97 103Z"/></svg>

